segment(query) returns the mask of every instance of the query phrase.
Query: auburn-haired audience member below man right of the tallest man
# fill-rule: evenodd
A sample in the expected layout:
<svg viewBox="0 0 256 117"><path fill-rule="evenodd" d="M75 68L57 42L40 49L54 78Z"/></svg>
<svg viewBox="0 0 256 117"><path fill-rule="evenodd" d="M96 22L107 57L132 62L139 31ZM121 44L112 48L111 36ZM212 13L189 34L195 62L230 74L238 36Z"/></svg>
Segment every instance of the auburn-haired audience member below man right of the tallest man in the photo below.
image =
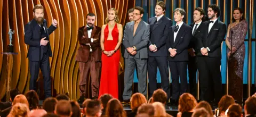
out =
<svg viewBox="0 0 256 117"><path fill-rule="evenodd" d="M189 93L184 93L180 96L177 117L189 117L193 114L194 108L197 105L195 97Z"/></svg>

